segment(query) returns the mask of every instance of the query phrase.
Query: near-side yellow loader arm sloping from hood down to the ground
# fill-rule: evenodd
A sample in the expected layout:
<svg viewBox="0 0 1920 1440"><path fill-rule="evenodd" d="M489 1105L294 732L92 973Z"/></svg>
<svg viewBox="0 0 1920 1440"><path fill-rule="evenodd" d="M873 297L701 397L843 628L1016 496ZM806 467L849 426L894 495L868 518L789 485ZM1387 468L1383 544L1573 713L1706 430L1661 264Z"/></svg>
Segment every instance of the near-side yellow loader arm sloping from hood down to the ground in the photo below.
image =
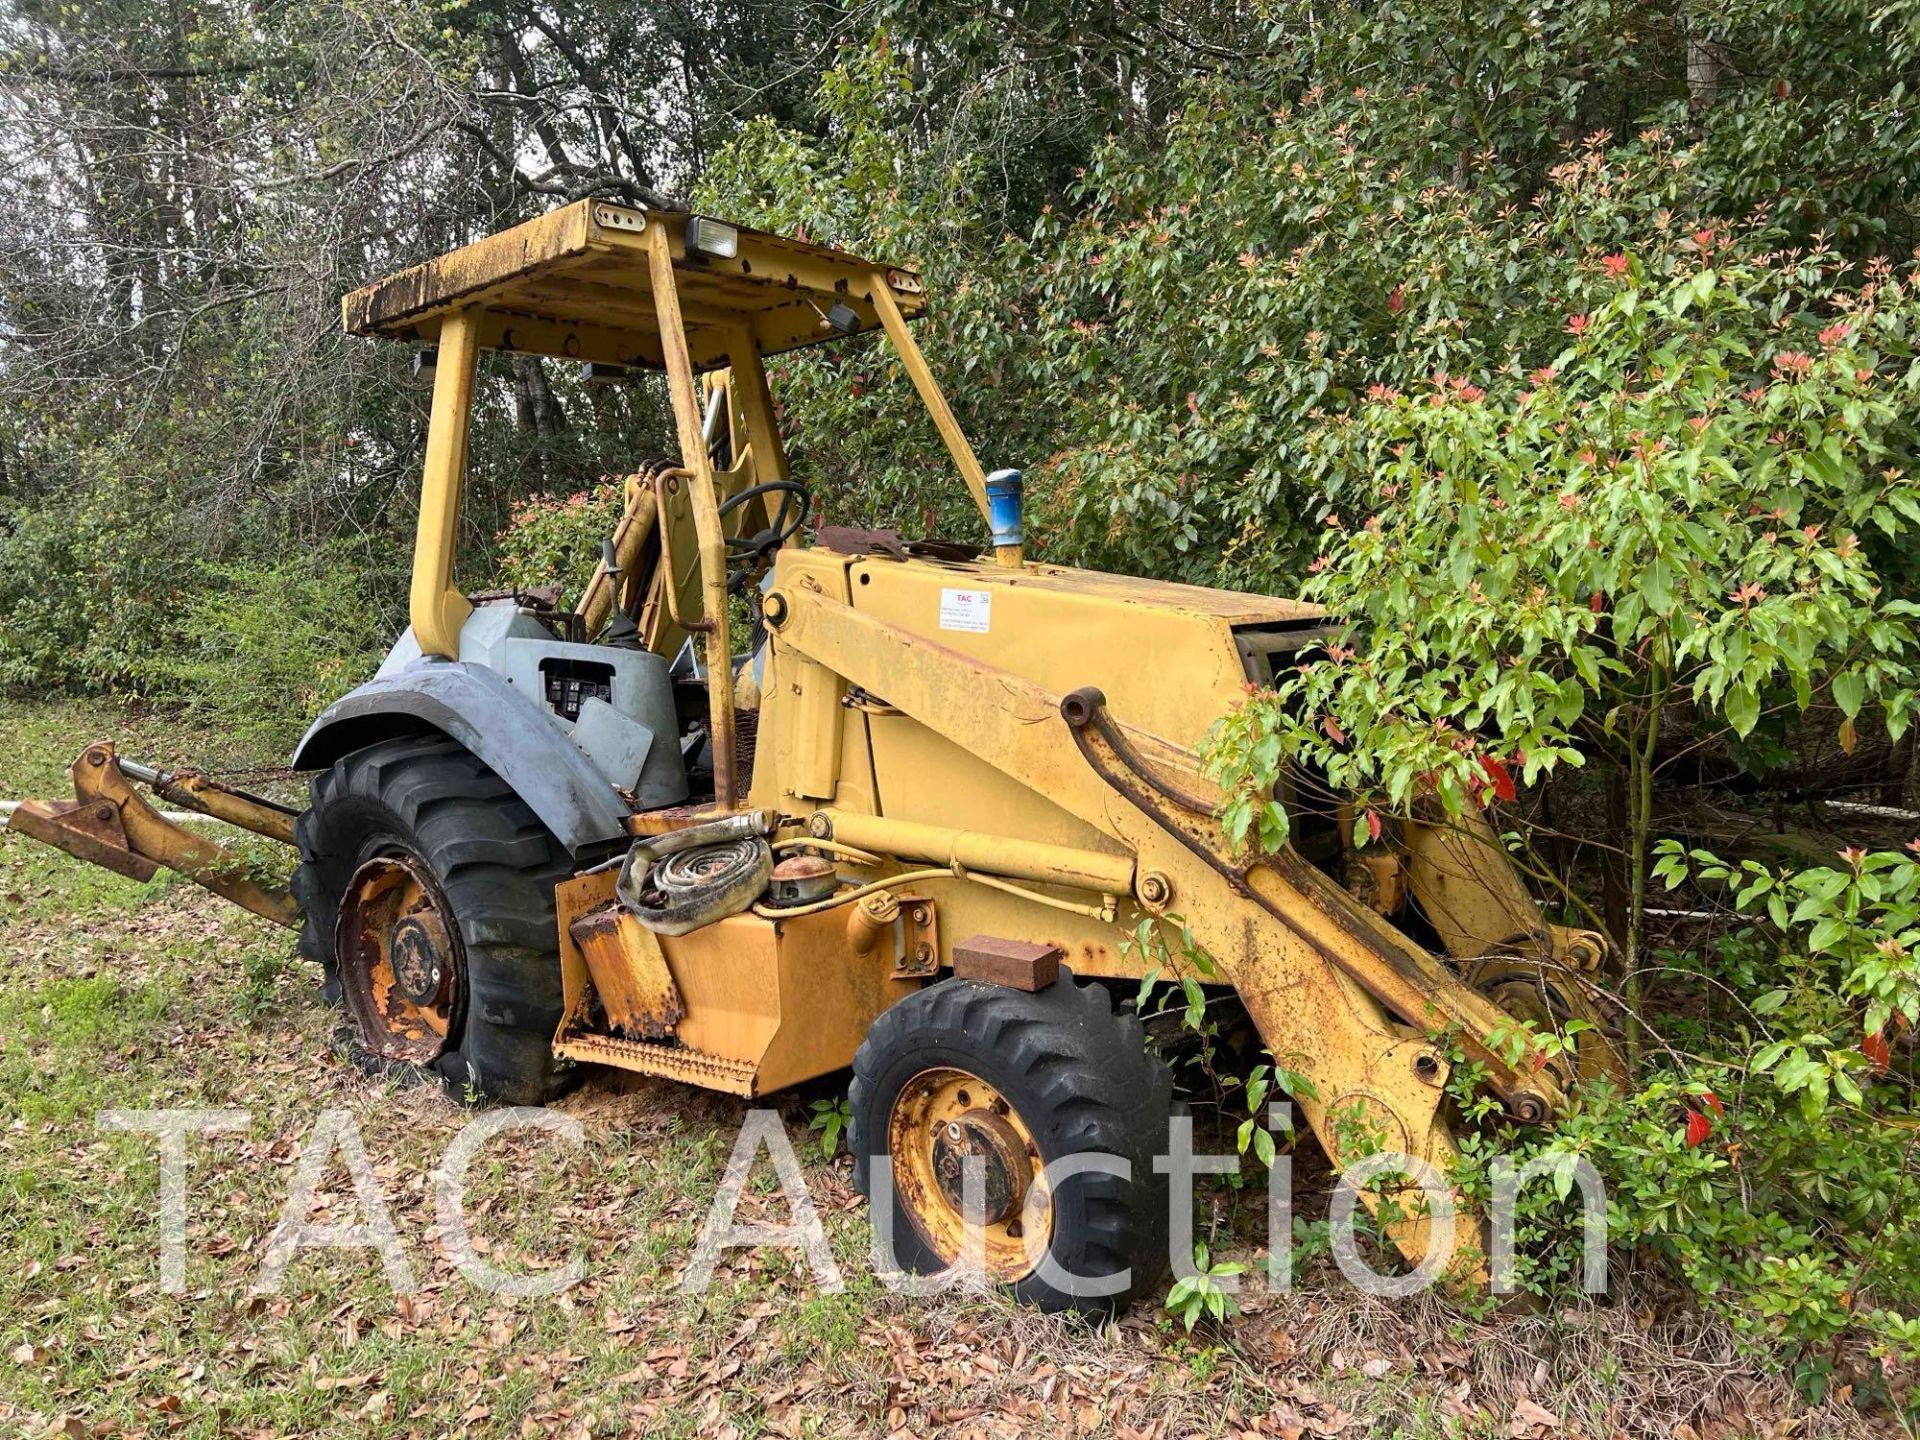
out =
<svg viewBox="0 0 1920 1440"><path fill-rule="evenodd" d="M1505 1012L1294 852L1236 856L1192 756L1114 720L1096 693L1054 695L806 586L785 593L774 632L1127 847L1137 893L1156 895L1142 908L1192 929L1279 1064L1306 1077L1294 1100L1336 1164L1400 1150L1446 1173L1450 1066L1434 1033L1457 1035L1517 1116L1563 1104L1548 1073L1490 1043ZM1394 1235L1411 1260L1427 1254L1423 1217Z"/></svg>

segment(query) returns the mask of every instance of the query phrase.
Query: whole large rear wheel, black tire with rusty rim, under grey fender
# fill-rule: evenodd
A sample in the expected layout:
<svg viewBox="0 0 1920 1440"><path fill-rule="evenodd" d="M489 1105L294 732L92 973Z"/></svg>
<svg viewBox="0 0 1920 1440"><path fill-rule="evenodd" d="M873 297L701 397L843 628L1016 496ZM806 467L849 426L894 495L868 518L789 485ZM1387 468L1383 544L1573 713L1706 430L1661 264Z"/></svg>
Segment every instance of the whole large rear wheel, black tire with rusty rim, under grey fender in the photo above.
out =
<svg viewBox="0 0 1920 1440"><path fill-rule="evenodd" d="M566 849L507 781L440 735L353 751L309 789L294 828L300 954L321 966L328 1002L349 1002L361 1060L432 1069L457 1096L541 1104L559 1094L566 1071L551 1050L563 1006L553 887L572 874ZM432 966L409 964L420 920L440 941L444 983ZM413 929L399 945L396 924ZM401 1012L392 996L409 970L420 972L417 1004Z"/></svg>

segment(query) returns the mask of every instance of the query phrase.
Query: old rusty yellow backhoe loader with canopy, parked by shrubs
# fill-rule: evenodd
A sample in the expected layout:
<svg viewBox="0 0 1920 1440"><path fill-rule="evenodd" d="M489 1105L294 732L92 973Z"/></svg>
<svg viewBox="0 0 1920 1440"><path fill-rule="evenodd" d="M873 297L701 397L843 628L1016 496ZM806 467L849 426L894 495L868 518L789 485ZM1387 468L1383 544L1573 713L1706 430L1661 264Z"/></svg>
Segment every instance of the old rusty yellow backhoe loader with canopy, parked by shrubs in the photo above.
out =
<svg viewBox="0 0 1920 1440"><path fill-rule="evenodd" d="M1617 1064L1605 1031L1513 1037L1599 1020L1601 939L1546 918L1484 816L1356 851L1300 776L1292 843L1231 845L1198 747L1327 618L1029 557L1020 472L987 474L962 434L912 334L925 307L900 267L601 200L346 296L351 334L422 351L432 405L411 626L300 741L307 806L102 741L75 801L12 826L298 929L365 1058L463 1094L538 1104L612 1066L758 1096L851 1066L856 1179L902 1263L983 1254L1048 1308L1165 1269L1173 1085L1133 1012L1150 966L1231 991L1334 1164L1444 1173L1457 1056L1549 1123ZM874 332L987 545L816 524L764 361ZM570 611L455 582L488 349L666 376L678 457L624 480ZM298 845L290 889L134 781ZM1129 943L1156 925L1194 948ZM1056 1165L1094 1154L1125 1165ZM1388 1233L1419 1261L1438 1227L1394 1208Z"/></svg>

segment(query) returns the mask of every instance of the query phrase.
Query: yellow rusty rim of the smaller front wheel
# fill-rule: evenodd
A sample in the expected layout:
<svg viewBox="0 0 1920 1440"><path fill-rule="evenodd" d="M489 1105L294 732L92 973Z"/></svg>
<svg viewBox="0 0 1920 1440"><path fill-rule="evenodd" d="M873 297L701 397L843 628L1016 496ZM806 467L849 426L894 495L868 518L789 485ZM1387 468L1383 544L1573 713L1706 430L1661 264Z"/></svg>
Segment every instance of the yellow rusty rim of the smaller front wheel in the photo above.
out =
<svg viewBox="0 0 1920 1440"><path fill-rule="evenodd" d="M952 1265L968 1242L966 1162L983 1177L981 1248L987 1273L1018 1281L1052 1242L1046 1162L1033 1131L993 1085L952 1066L924 1069L900 1089L887 1121L893 1183L920 1238Z"/></svg>

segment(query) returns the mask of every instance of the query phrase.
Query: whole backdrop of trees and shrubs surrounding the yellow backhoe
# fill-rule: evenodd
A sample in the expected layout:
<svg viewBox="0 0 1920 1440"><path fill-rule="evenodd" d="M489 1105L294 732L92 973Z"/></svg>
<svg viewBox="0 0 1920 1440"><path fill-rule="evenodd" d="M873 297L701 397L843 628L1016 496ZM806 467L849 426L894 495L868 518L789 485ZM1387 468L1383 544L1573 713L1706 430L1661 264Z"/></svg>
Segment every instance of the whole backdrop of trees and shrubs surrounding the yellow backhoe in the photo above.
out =
<svg viewBox="0 0 1920 1440"><path fill-rule="evenodd" d="M340 336L367 278L589 194L918 263L1039 553L1311 589L1380 657L1223 724L1250 841L1283 762L1501 806L1645 1041L1546 1142L1809 1384L1891 1363L1914 860L1697 812L1799 804L1811 737L1905 803L1916 44L1912 0L15 0L0 684L286 739L371 670L424 394ZM972 534L872 342L774 384L818 518ZM582 553L668 436L655 388L490 359L463 572ZM1655 933L1665 885L1728 922Z"/></svg>

